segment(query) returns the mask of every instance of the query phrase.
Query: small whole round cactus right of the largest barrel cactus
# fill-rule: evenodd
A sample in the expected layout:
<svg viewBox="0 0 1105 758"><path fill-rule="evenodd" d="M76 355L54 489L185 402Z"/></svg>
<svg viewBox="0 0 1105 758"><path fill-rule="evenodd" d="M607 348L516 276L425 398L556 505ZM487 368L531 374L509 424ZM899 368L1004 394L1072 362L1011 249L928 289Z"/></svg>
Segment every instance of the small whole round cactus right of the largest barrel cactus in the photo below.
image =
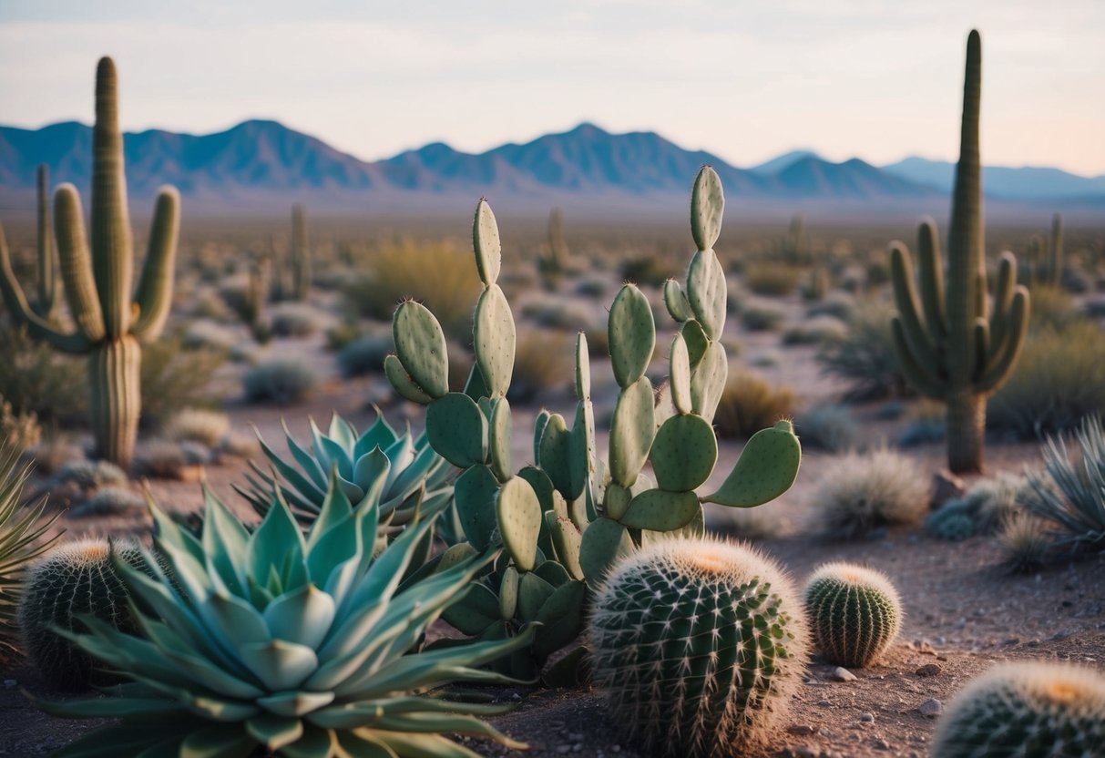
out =
<svg viewBox="0 0 1105 758"><path fill-rule="evenodd" d="M902 629L902 601L884 575L852 564L825 564L806 586L813 644L845 666L871 664Z"/></svg>

